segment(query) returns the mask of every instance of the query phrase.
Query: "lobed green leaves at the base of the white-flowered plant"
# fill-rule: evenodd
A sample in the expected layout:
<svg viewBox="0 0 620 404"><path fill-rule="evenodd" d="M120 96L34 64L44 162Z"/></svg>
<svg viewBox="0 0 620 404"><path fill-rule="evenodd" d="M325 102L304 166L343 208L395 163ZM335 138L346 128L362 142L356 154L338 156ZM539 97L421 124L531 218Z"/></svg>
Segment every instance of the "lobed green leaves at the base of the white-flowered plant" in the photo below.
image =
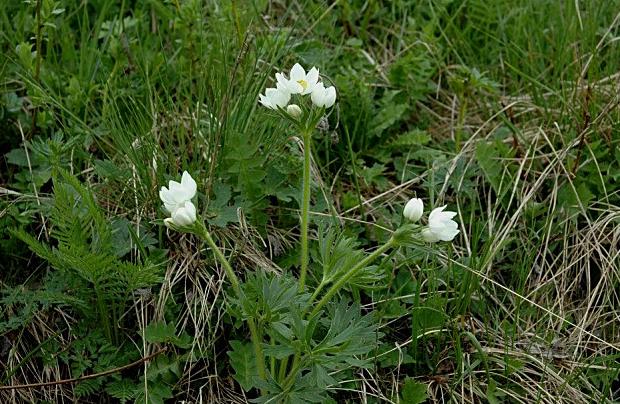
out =
<svg viewBox="0 0 620 404"><path fill-rule="evenodd" d="M252 345L230 343L228 356L235 380L246 391L263 390L261 400L277 397L284 402L321 402L327 397L324 389L346 377L343 370L369 363L365 357L381 337L373 315L362 315L359 305L346 301L305 319L309 295L298 290L293 278L257 273L242 285L243 298L233 301L233 310L256 319L264 330L270 341L263 344L268 362L272 358L285 363L282 361L298 356L299 364L286 380L272 374L265 382L258 378Z"/></svg>

